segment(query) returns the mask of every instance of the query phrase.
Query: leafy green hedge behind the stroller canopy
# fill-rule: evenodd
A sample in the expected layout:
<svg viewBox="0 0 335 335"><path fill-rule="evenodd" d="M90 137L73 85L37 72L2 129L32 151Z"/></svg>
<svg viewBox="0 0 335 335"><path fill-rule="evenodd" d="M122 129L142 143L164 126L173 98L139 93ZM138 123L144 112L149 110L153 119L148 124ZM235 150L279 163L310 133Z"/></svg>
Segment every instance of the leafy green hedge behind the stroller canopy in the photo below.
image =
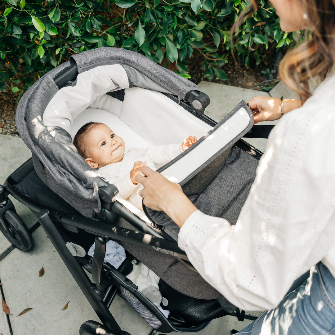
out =
<svg viewBox="0 0 335 335"><path fill-rule="evenodd" d="M113 0L114 1L114 0ZM22 94L69 56L114 46L140 52L189 77L187 56L204 56L205 77L221 80L230 50L229 31L249 1L241 0L6 0L0 5L0 90ZM273 7L260 9L236 32L234 49L247 65L268 48L289 45L297 33L279 28ZM237 40L236 40L237 39Z"/></svg>

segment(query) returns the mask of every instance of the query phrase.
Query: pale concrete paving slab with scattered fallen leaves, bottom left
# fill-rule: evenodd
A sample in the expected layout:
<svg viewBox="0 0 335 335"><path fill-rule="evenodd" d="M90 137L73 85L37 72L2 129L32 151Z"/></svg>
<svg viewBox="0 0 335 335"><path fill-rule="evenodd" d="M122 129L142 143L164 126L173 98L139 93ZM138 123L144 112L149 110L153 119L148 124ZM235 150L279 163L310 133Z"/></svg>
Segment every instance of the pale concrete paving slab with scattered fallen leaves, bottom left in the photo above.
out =
<svg viewBox="0 0 335 335"><path fill-rule="evenodd" d="M0 262L4 295L13 313L10 316L13 334L77 335L83 322L99 319L43 228L39 227L32 235L35 243L30 251L14 249ZM45 274L39 277L42 265ZM68 308L62 311L68 301ZM16 317L26 308L33 310ZM130 334L150 333L151 327L119 296L111 312L120 327Z"/></svg>

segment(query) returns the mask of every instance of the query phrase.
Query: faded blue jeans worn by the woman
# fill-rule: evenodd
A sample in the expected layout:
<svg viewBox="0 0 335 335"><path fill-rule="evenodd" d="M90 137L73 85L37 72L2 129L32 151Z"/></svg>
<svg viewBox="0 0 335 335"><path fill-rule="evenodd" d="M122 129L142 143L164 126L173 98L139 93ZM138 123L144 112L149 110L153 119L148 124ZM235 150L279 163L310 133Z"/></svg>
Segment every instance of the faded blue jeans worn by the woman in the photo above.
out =
<svg viewBox="0 0 335 335"><path fill-rule="evenodd" d="M335 278L318 263L305 283L288 293L278 307L264 312L237 334L335 334Z"/></svg>

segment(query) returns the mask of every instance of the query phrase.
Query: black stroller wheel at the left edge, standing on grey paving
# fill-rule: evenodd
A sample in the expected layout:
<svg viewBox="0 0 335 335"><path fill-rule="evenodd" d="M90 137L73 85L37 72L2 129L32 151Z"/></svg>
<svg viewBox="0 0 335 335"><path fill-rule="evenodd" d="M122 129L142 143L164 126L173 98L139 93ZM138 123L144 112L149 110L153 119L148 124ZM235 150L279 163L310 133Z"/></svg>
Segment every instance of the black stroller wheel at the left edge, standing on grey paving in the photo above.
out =
<svg viewBox="0 0 335 335"><path fill-rule="evenodd" d="M33 245L32 236L22 221L13 209L8 209L3 216L0 216L1 223L7 227L5 231L2 224L0 230L6 239L21 251L28 251Z"/></svg>

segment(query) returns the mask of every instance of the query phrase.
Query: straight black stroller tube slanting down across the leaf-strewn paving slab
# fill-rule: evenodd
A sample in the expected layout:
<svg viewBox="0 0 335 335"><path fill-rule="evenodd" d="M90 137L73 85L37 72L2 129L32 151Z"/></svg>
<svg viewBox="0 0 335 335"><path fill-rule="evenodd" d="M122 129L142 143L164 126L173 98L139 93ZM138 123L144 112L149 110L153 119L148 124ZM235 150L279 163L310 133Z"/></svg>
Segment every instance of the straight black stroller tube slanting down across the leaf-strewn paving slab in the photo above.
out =
<svg viewBox="0 0 335 335"><path fill-rule="evenodd" d="M108 327L115 335L124 334L125 332L121 330L114 317L112 316L111 312L107 308L106 304L103 301L96 300L90 292L89 288L90 286L92 286L92 282L77 261L76 257L72 256L70 251L65 247L65 241L60 235L55 224L53 223L48 213L48 210L41 210L38 213L37 218L101 322L104 324L104 326Z"/></svg>

